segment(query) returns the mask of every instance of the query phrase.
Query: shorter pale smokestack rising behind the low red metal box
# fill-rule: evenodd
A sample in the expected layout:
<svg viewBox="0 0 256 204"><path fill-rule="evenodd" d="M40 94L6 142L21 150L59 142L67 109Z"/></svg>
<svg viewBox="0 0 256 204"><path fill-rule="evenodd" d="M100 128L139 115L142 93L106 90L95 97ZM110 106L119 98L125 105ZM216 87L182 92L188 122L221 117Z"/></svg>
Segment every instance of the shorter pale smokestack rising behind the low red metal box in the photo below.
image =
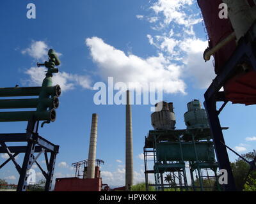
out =
<svg viewBox="0 0 256 204"><path fill-rule="evenodd" d="M88 179L94 179L94 177L95 177L97 130L98 130L98 115L97 115L97 113L93 113L92 114L90 146L89 146L89 154L88 154L88 166L87 166L87 178Z"/></svg>

